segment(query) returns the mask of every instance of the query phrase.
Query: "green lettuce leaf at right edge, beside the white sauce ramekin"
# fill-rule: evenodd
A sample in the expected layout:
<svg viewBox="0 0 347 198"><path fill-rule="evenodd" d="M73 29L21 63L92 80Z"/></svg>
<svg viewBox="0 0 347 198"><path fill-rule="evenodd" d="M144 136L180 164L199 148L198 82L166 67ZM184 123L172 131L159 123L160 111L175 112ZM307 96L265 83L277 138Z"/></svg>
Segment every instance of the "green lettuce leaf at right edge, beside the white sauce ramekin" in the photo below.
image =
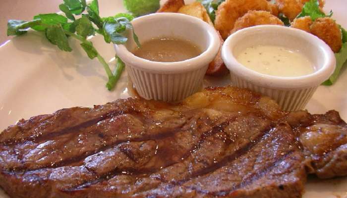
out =
<svg viewBox="0 0 347 198"><path fill-rule="evenodd" d="M339 77L340 71L347 61L347 31L341 28L342 32L342 48L338 53L335 53L336 58L336 68L334 73L326 80L323 85L333 85Z"/></svg>

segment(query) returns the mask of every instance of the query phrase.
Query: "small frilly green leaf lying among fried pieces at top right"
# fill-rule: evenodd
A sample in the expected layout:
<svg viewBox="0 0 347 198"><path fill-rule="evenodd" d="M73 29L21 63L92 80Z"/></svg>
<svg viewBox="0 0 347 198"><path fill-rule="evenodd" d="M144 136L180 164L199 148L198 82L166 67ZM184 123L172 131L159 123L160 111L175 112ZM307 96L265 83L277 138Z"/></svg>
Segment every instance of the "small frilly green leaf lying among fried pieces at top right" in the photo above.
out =
<svg viewBox="0 0 347 198"><path fill-rule="evenodd" d="M314 21L317 18L325 16L331 17L332 15L332 11L330 11L330 13L326 15L324 12L320 10L318 0L309 0L304 4L304 6L302 7L302 11L296 16L296 18L310 16L312 21Z"/></svg>

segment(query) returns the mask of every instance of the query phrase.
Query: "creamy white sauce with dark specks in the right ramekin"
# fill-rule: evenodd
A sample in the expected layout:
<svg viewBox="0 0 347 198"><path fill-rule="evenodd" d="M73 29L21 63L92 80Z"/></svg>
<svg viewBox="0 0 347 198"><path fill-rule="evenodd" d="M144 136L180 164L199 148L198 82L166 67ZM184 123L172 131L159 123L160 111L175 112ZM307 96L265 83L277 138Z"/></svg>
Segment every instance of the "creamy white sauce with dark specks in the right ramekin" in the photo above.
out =
<svg viewBox="0 0 347 198"><path fill-rule="evenodd" d="M304 76L314 72L314 65L299 51L280 46L254 46L244 49L237 61L262 74L281 77Z"/></svg>

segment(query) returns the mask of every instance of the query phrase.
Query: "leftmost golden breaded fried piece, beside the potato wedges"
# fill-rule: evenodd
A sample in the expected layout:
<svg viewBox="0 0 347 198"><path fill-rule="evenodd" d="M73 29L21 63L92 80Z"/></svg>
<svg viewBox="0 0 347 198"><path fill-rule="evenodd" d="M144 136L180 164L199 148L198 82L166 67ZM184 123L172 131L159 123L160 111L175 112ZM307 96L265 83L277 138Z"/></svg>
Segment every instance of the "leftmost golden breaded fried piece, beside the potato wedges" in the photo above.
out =
<svg viewBox="0 0 347 198"><path fill-rule="evenodd" d="M276 12L273 6L267 0L226 0L218 6L216 11L215 28L221 33L223 39L227 39L239 17L249 10Z"/></svg>

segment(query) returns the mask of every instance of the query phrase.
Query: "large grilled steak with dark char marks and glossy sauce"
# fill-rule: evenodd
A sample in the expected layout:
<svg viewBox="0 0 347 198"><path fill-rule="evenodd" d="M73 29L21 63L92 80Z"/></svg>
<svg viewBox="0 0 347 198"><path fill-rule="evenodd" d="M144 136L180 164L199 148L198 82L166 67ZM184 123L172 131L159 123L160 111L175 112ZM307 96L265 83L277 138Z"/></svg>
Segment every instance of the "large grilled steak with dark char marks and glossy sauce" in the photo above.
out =
<svg viewBox="0 0 347 198"><path fill-rule="evenodd" d="M12 198L300 198L308 173L347 175L338 113L284 112L232 87L179 105L62 109L0 134L0 186Z"/></svg>

